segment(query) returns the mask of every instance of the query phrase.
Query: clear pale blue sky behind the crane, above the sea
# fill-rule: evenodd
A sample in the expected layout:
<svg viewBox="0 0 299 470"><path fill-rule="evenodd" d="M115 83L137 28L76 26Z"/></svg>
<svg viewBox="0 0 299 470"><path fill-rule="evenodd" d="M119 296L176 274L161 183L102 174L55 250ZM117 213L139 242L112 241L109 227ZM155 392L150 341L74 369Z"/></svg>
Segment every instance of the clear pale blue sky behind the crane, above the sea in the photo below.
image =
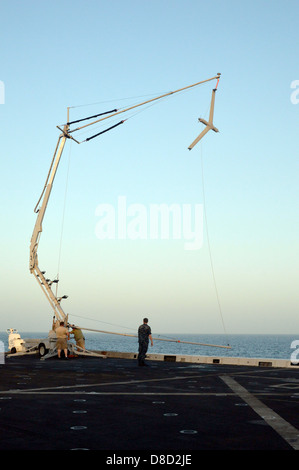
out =
<svg viewBox="0 0 299 470"><path fill-rule="evenodd" d="M134 329L146 315L159 333L223 333L223 319L228 334L299 334L298 14L297 0L1 1L1 331L50 327L29 245L67 107L85 117L220 72L220 132L191 152L215 82L67 144L39 265L59 272L65 311L89 328ZM204 205L202 247L100 240L96 210L120 196L146 210Z"/></svg>

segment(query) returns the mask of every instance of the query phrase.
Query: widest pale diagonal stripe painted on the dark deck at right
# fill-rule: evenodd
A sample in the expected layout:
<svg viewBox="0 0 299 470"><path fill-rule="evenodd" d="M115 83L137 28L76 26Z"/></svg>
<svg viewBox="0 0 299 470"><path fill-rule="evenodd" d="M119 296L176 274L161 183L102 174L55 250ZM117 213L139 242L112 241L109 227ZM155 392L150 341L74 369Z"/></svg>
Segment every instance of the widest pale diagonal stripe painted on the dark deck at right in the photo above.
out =
<svg viewBox="0 0 299 470"><path fill-rule="evenodd" d="M220 376L228 387L244 400L274 431L276 431L293 449L299 450L299 431L271 408L268 408L246 388L236 382L232 377Z"/></svg>

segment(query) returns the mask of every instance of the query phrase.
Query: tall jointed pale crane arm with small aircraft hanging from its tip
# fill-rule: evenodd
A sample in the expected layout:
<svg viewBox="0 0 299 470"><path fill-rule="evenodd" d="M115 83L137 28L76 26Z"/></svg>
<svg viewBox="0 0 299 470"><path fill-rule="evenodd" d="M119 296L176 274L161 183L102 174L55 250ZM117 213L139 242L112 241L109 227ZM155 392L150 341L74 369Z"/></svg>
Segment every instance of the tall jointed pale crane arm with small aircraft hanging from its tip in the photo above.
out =
<svg viewBox="0 0 299 470"><path fill-rule="evenodd" d="M82 142L75 139L73 137L73 134L75 132L83 129L83 128L86 128L88 126L92 126L92 125L94 125L96 123L99 123L101 121L107 120L107 119L112 118L114 116L118 116L118 115L120 115L122 113L125 113L125 112L128 112L128 111L131 111L132 109L137 108L139 106L143 106L145 104L154 102L154 101L159 100L161 98L164 98L166 96L170 96L172 94L181 92L181 91L186 90L188 88L195 87L195 86L198 86L200 84L203 84L203 83L206 83L208 81L215 80L215 79L217 80L217 84L216 84L216 87L212 91L212 101L211 101L209 121L207 122L203 119L199 119L200 122L202 122L203 124L206 125L206 128L194 140L194 142L188 147L189 150L191 150L210 129L212 129L215 132L218 132L218 129L216 129L214 127L214 124L213 124L213 113L214 113L215 92L216 92L216 89L217 89L217 86L218 86L218 83L219 83L220 73L218 73L216 76L214 76L212 78L194 83L193 85L189 85L189 86L186 86L184 88L180 88L180 89L175 90L175 91L165 93L163 95L160 95L158 97L152 98L152 99L147 100L147 101L144 101L142 103L130 106L126 109L122 109L122 110L113 109L111 111L96 114L96 115L89 116L87 118L79 119L79 120L72 121L72 122L69 121L69 109L70 108L67 109L67 123L64 124L63 126L57 126L57 128L62 133L60 134L60 136L58 138L58 142L57 142L57 145L56 145L56 149L55 149L55 152L54 152L54 156L53 156L53 159L52 159L52 162L51 162L51 165L50 165L50 169L49 169L49 172L48 172L48 175L47 175L47 179L46 179L42 194L41 194L41 196L40 196L40 198L39 198L39 200L38 200L38 202L35 206L35 209L34 209L34 212L37 213L37 219L36 219L33 234L32 234L32 237L31 237L31 243L30 243L30 272L35 276L38 284L40 285L40 287L42 288L42 290L43 290L44 294L46 295L48 301L50 302L50 305L51 305L51 307L54 311L54 317L56 318L57 322L63 321L65 325L68 324L68 315L64 312L63 308L61 307L61 300L67 298L67 296L64 295L62 297L57 297L57 295L52 290L52 285L57 283L58 279L54 279L52 281L50 279L47 279L46 276L45 276L45 271L42 271L40 269L39 263L38 263L38 245L39 245L39 240L40 240L40 236L41 236L41 233L42 233L43 219L44 219L44 216L45 216L45 212L46 212L47 205L48 205L48 202L49 202L49 198L50 198L50 195L51 195L51 191L52 191L52 188L53 188L55 175L56 175L58 165L59 165L59 162L60 162L60 159L61 159L61 156L62 156L62 152L63 152L63 149L64 149L64 146L65 146L65 143L66 143L67 139L72 139L78 144L81 144L83 142L88 142L89 140L91 140L95 137L98 137L99 135L103 134L104 132L107 132L107 131L113 129L113 128L119 126L120 124L123 124L125 122L125 120L119 121L117 124L112 125L112 126L108 127L107 129L105 129L101 132L98 132L97 134L92 135L91 137L85 139ZM79 124L83 121L87 121L87 120L90 120L90 119L94 119L94 120L92 122L87 123L87 124L79 125L79 127L76 127L76 128L71 130L72 125ZM40 205L40 207L38 207L40 202L41 202L41 205ZM109 333L111 333L111 332L109 332ZM221 346L221 347L223 347L223 346Z"/></svg>

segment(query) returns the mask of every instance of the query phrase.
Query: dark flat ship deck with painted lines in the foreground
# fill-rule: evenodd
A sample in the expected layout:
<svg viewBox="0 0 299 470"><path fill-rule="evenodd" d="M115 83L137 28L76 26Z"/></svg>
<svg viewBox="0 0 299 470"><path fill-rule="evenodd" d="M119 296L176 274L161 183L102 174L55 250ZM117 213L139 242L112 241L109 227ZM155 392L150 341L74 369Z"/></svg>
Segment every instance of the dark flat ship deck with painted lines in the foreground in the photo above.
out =
<svg viewBox="0 0 299 470"><path fill-rule="evenodd" d="M0 450L294 450L298 430L298 369L32 355L0 365Z"/></svg>

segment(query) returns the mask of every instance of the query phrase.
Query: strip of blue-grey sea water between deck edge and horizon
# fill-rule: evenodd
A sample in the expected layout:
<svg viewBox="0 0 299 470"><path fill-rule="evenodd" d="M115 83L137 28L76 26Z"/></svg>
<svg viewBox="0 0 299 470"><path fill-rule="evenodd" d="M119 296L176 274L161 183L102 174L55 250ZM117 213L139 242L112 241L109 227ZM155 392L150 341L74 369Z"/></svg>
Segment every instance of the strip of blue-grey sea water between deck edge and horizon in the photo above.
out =
<svg viewBox="0 0 299 470"><path fill-rule="evenodd" d="M22 338L47 338L48 332L21 332ZM85 346L90 350L103 351L138 351L136 337L120 336L104 333L84 332ZM299 348L299 334L296 335L262 335L262 334L235 334L235 335L209 335L209 334L183 334L158 335L153 334L154 346L149 345L149 353L161 354L188 354L215 357L256 357L271 359L290 359L290 356ZM157 339L155 339L157 338ZM167 340L167 341L165 341ZM175 340L180 342L172 342ZM4 351L8 351L8 335L0 331L0 341L4 344ZM187 344L186 342L204 343L208 345L230 345L230 349L212 346ZM294 342L298 341L298 345ZM2 346L3 350L3 346Z"/></svg>

